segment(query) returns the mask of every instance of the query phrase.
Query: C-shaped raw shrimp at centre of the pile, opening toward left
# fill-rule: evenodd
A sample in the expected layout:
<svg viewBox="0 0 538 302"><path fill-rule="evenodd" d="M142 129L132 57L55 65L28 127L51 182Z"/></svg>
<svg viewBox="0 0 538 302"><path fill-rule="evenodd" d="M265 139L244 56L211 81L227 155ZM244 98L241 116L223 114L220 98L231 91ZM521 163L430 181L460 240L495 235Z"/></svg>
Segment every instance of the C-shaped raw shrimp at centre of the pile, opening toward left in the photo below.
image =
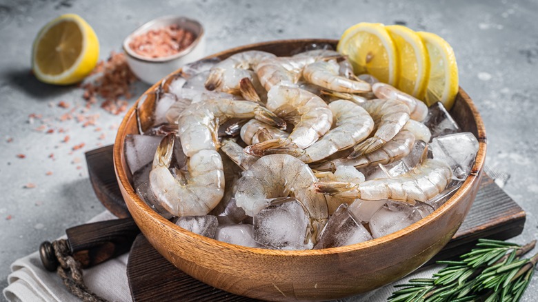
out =
<svg viewBox="0 0 538 302"><path fill-rule="evenodd" d="M323 136L332 125L332 112L327 103L316 94L299 88L277 85L267 94L267 108L295 125L287 139L271 139L246 148L252 155L263 155L263 150L277 145L307 148Z"/></svg>

